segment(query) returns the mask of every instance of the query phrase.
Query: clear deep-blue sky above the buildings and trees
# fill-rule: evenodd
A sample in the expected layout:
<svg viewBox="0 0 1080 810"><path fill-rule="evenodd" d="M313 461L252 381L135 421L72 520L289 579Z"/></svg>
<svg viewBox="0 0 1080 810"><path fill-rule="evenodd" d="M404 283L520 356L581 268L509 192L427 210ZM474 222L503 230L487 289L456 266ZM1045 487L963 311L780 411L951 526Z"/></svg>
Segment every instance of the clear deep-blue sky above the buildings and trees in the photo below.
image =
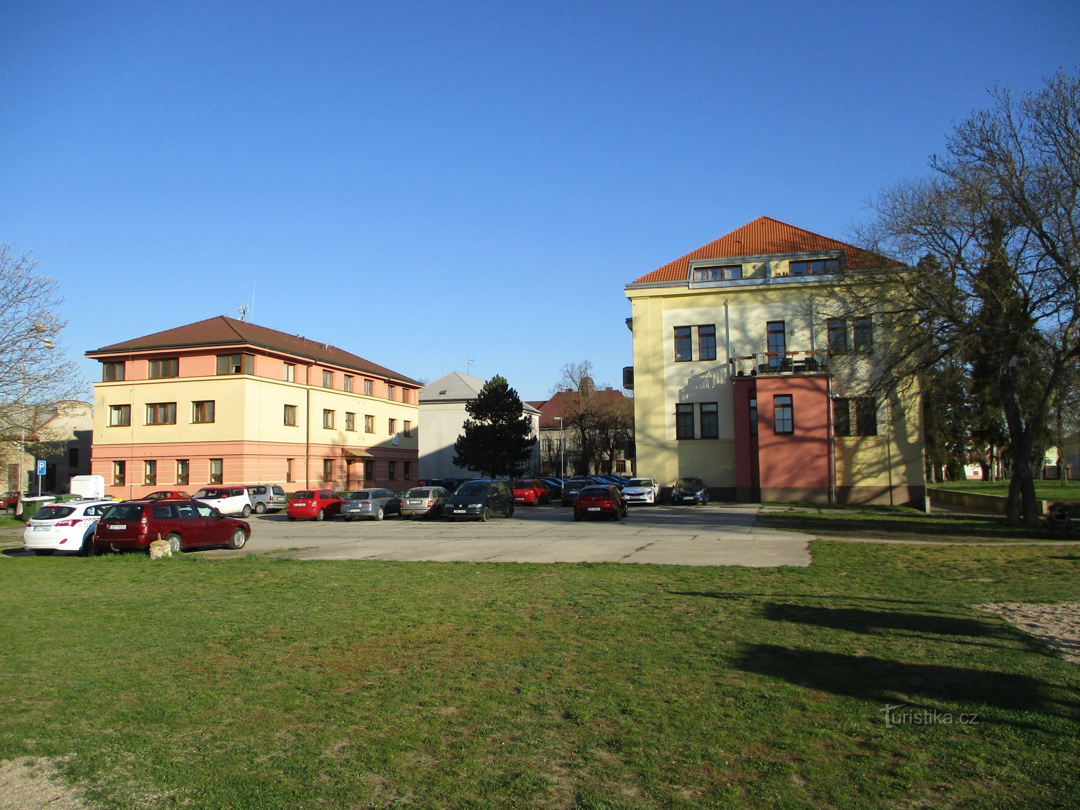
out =
<svg viewBox="0 0 1080 810"><path fill-rule="evenodd" d="M66 350L251 303L434 379L618 384L622 288L768 214L845 238L1076 2L19 2L0 239ZM96 364L83 362L87 378Z"/></svg>

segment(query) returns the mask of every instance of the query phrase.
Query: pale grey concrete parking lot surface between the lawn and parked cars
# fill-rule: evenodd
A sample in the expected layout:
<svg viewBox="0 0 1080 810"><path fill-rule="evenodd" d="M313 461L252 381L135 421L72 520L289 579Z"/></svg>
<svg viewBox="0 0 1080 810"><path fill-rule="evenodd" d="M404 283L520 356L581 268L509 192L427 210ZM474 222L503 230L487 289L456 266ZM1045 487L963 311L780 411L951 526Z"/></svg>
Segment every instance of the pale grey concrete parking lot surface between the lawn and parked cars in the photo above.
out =
<svg viewBox="0 0 1080 810"><path fill-rule="evenodd" d="M616 521L573 521L558 505L518 509L490 523L443 519L323 523L251 517L235 556L278 552L295 559L396 559L473 563L651 563L774 567L810 564L810 535L755 529L757 507L636 507ZM288 550L288 551L282 551Z"/></svg>

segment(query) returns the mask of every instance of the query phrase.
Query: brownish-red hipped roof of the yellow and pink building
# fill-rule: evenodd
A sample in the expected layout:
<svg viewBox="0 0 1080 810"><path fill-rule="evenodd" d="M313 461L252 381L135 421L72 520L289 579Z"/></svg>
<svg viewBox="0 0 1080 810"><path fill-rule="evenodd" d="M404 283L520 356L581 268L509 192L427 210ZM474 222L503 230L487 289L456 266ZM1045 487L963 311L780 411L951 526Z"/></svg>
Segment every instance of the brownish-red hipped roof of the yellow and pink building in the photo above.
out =
<svg viewBox="0 0 1080 810"><path fill-rule="evenodd" d="M100 349L93 349L86 352L86 355L94 356L97 354L113 354L145 349L235 346L237 343L249 343L251 346L276 349L286 354L309 357L329 365L354 368L401 382L420 384L410 377L397 374L397 372L391 370L386 366L380 366L377 363L372 363L343 349L338 349L336 346L320 343L316 340L309 340L298 335L278 332L276 329L270 329L266 326L247 323L246 321L238 321L234 318L226 315L207 318L205 321L197 321L185 326L156 332L152 335L144 335L143 337L112 343L111 346L103 346Z"/></svg>

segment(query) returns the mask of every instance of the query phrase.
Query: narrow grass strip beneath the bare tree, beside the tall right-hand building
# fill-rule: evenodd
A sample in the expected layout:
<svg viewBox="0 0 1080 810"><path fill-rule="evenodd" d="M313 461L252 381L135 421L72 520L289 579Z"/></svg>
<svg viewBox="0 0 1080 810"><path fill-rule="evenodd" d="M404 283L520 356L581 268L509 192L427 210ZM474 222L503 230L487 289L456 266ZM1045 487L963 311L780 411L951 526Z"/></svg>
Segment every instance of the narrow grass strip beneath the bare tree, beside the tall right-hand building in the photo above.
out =
<svg viewBox="0 0 1080 810"><path fill-rule="evenodd" d="M781 507L784 504L773 504ZM761 512L755 526L806 531L815 537L923 542L1012 542L1053 540L1041 529L1009 526L1003 516L970 516L943 512L923 514L892 507L838 509L788 507L784 512Z"/></svg>

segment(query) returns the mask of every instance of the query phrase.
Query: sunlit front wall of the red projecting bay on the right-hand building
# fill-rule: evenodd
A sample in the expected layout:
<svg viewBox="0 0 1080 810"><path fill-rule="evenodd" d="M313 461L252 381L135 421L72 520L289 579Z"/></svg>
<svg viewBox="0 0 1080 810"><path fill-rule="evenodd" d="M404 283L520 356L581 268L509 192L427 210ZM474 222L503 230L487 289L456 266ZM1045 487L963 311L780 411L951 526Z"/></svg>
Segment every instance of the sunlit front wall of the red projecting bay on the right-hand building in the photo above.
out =
<svg viewBox="0 0 1080 810"><path fill-rule="evenodd" d="M795 433L777 434L774 395L791 394ZM757 378L758 463L761 488L828 487L828 380ZM741 485L740 485L741 486Z"/></svg>

